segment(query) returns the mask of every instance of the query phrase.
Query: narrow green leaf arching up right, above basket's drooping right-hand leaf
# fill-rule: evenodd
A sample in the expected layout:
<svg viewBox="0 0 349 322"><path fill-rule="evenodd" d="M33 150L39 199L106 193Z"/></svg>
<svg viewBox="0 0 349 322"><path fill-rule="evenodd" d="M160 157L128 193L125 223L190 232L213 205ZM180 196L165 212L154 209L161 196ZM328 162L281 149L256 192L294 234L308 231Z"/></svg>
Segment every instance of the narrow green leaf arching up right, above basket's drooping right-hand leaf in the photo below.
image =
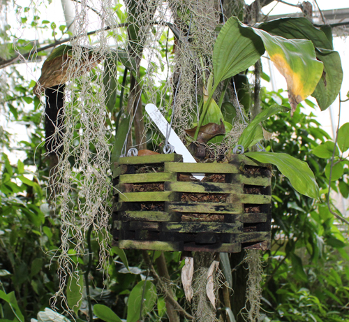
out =
<svg viewBox="0 0 349 322"><path fill-rule="evenodd" d="M258 114L250 124L248 124L246 129L244 129L237 144L242 145L245 149L251 147L255 144L255 142L253 142L253 139L255 138L257 131L260 130L260 132L262 132L262 128L258 129L258 124L260 124L260 122L265 121L265 119L268 119L276 113L287 112L288 110L290 109L285 108L285 106L282 105L272 105L270 108L262 110L262 112L260 112L260 114ZM261 134L260 139L262 138L263 133Z"/></svg>

